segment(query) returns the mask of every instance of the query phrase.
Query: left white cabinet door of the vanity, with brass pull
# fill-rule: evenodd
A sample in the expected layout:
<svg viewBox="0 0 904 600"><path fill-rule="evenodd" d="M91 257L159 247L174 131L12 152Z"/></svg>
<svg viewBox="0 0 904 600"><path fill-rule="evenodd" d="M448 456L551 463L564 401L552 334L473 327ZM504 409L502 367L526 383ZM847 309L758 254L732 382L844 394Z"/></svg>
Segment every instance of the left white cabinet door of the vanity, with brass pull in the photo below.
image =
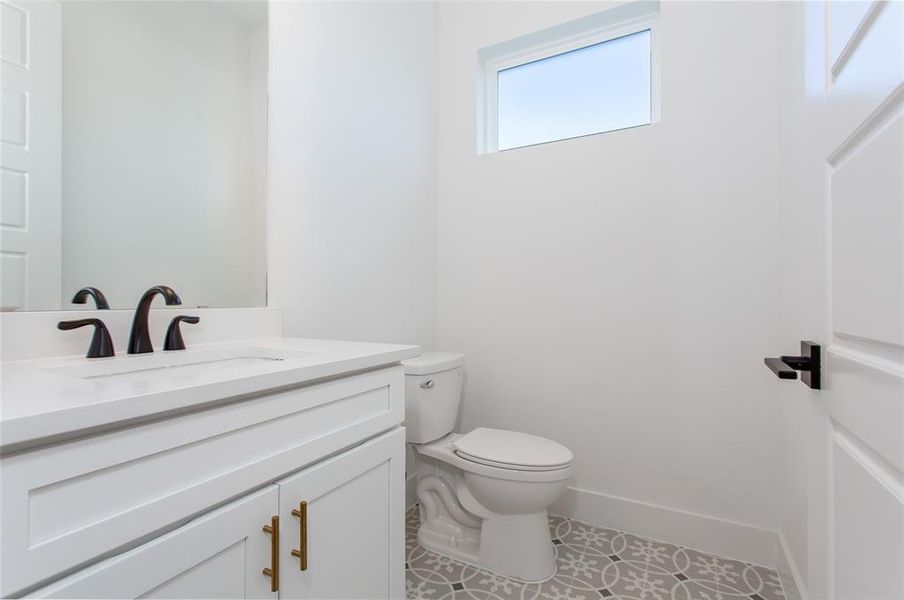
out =
<svg viewBox="0 0 904 600"><path fill-rule="evenodd" d="M276 598L270 591L276 514L270 485L133 550L66 577L38 598Z"/></svg>

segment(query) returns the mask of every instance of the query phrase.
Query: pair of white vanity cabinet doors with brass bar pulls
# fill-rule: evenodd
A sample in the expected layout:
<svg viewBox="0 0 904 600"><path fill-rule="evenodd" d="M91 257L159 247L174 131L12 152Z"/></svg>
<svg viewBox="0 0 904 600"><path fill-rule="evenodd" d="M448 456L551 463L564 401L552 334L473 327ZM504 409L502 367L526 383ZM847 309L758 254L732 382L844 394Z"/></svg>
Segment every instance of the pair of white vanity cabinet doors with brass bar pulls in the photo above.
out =
<svg viewBox="0 0 904 600"><path fill-rule="evenodd" d="M404 447L397 428L29 596L401 599Z"/></svg>

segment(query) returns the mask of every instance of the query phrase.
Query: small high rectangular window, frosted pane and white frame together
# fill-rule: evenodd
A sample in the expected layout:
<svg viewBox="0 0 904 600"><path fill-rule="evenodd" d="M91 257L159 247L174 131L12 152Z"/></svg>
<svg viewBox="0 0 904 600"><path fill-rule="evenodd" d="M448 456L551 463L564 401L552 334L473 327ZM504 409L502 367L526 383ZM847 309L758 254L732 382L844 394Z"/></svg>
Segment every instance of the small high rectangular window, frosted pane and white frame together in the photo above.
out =
<svg viewBox="0 0 904 600"><path fill-rule="evenodd" d="M654 122L657 13L631 3L482 50L479 151Z"/></svg>

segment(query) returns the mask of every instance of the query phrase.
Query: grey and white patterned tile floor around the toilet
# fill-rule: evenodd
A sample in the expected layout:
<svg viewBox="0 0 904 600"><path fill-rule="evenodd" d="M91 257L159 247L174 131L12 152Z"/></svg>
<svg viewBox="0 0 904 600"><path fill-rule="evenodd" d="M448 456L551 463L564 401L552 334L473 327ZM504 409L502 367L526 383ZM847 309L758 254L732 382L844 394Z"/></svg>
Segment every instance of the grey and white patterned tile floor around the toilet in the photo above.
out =
<svg viewBox="0 0 904 600"><path fill-rule="evenodd" d="M420 547L417 507L405 518L410 600L779 600L772 569L623 531L550 517L559 568L523 584Z"/></svg>

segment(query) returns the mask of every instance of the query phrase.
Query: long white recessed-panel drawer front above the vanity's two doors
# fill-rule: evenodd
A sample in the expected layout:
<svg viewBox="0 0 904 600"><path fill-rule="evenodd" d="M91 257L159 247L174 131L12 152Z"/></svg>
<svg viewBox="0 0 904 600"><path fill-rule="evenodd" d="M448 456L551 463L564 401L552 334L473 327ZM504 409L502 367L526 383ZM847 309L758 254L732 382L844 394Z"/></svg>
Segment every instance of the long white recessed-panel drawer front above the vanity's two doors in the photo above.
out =
<svg viewBox="0 0 904 600"><path fill-rule="evenodd" d="M0 594L399 425L403 378L395 366L4 457Z"/></svg>

